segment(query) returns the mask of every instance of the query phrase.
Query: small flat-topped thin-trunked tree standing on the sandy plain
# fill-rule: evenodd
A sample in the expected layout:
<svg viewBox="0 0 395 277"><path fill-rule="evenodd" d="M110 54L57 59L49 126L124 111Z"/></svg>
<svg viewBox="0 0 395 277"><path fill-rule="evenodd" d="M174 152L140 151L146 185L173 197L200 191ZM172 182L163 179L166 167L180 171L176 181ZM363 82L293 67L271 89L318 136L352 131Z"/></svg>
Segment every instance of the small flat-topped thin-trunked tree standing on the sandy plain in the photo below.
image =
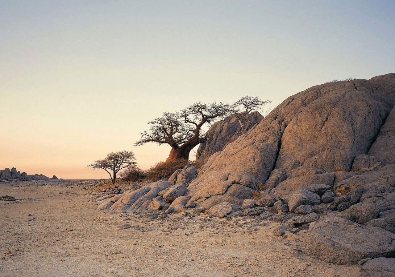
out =
<svg viewBox="0 0 395 277"><path fill-rule="evenodd" d="M110 179L115 183L117 180L117 173L121 169L127 167L135 167L137 164L135 162L136 158L134 152L131 151L121 151L121 152L111 152L107 154L103 160L97 160L94 164L90 164L87 167L89 169L104 169L110 175ZM113 172L111 175L110 171Z"/></svg>

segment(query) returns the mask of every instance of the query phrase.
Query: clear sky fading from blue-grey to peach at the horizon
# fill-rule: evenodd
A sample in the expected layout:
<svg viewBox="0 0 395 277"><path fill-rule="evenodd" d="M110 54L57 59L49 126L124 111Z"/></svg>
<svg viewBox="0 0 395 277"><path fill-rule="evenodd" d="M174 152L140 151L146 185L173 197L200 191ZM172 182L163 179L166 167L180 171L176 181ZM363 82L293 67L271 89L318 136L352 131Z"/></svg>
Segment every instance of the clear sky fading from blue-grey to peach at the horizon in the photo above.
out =
<svg viewBox="0 0 395 277"><path fill-rule="evenodd" d="M395 72L395 1L0 0L0 169L107 178L147 122L194 102L272 100ZM193 153L190 158L193 159Z"/></svg>

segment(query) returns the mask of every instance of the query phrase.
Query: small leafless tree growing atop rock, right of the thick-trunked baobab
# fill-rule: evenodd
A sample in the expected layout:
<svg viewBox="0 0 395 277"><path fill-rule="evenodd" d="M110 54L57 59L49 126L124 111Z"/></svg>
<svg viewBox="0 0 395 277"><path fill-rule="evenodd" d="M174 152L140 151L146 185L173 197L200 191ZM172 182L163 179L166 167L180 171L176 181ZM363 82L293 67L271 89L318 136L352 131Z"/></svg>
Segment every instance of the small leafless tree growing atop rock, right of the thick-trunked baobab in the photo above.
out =
<svg viewBox="0 0 395 277"><path fill-rule="evenodd" d="M248 114L252 110L257 110L261 106L271 103L270 100L262 100L256 96L245 96L242 97L240 100L233 104L234 110L233 114L236 116L237 121L240 124L240 130L242 134L245 134L247 131L248 125L251 123L251 118ZM241 112L241 110L245 110L245 112Z"/></svg>

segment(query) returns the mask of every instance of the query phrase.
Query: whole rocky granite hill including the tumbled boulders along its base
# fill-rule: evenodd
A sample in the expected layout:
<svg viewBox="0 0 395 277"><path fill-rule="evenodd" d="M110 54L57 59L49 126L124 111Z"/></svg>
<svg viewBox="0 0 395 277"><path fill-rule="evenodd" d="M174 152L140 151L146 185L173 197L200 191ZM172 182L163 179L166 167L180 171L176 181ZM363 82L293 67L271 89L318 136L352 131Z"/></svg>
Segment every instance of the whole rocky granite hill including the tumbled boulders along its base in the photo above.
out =
<svg viewBox="0 0 395 277"><path fill-rule="evenodd" d="M395 73L314 86L212 153L199 173L187 165L100 199L99 209L270 219L279 236L309 229L307 254L326 262L393 258L394 106Z"/></svg>

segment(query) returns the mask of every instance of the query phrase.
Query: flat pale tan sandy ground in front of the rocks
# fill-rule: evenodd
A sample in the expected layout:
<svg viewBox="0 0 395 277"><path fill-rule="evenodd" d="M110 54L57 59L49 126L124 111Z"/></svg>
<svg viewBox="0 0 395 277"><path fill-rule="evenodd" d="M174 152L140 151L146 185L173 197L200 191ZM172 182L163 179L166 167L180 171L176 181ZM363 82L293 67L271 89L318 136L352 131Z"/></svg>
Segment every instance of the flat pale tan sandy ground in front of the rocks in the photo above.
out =
<svg viewBox="0 0 395 277"><path fill-rule="evenodd" d="M18 184L0 183L0 195L21 199L0 201L1 276L358 275L357 266L307 257L305 231L284 239L273 235L277 223L177 214L149 221L98 211L80 188Z"/></svg>

